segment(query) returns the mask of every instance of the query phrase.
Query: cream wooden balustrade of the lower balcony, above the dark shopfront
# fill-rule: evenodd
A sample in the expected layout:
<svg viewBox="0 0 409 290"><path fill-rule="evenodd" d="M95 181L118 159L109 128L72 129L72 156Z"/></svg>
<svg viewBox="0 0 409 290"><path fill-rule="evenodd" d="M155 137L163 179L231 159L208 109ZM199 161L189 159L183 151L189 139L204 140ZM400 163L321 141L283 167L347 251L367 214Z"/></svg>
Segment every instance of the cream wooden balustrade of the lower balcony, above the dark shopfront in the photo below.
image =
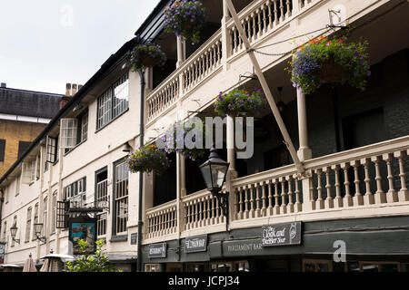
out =
<svg viewBox="0 0 409 290"><path fill-rule="evenodd" d="M390 207L388 215L407 214L408 151L406 136L307 160L305 176L298 175L294 165L289 165L233 179L230 222L234 222L234 228L251 227L252 220L260 218L297 215L297 220L303 220L305 214L314 213L318 214L315 220L334 219L344 217L340 209L347 208L361 208L364 217L376 217L385 207ZM330 216L325 216L327 213ZM175 234L177 222L181 232L209 232L226 221L217 199L207 190L181 198L178 218L173 201L150 208L146 219L146 238Z"/></svg>

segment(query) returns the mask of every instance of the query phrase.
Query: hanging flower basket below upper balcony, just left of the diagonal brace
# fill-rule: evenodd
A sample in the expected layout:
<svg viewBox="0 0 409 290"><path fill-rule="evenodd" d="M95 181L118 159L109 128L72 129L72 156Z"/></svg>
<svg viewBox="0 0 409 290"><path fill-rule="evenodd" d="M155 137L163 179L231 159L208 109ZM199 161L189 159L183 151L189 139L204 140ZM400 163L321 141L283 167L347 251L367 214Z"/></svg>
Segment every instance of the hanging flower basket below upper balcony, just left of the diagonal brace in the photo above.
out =
<svg viewBox="0 0 409 290"><path fill-rule="evenodd" d="M220 116L251 117L264 109L267 104L262 89L253 92L234 89L231 92L220 92L214 103L214 111Z"/></svg>

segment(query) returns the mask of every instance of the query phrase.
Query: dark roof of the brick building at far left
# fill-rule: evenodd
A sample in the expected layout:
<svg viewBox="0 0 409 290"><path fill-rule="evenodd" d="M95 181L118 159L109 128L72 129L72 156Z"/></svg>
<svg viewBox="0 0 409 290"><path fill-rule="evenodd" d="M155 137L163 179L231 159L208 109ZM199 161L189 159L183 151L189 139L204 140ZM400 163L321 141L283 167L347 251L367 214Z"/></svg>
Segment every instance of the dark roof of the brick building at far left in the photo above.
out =
<svg viewBox="0 0 409 290"><path fill-rule="evenodd" d="M52 119L60 110L61 94L0 88L0 113Z"/></svg>

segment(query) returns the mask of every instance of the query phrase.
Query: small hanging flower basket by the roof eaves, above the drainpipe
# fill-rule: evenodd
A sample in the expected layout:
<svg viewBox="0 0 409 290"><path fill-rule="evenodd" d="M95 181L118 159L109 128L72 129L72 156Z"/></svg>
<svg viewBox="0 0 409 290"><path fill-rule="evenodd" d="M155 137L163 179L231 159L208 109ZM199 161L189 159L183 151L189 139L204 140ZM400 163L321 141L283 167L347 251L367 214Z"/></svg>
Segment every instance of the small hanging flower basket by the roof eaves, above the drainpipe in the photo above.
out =
<svg viewBox="0 0 409 290"><path fill-rule="evenodd" d="M166 55L158 44L140 44L131 53L131 63L134 72L155 65L162 67L166 63Z"/></svg>

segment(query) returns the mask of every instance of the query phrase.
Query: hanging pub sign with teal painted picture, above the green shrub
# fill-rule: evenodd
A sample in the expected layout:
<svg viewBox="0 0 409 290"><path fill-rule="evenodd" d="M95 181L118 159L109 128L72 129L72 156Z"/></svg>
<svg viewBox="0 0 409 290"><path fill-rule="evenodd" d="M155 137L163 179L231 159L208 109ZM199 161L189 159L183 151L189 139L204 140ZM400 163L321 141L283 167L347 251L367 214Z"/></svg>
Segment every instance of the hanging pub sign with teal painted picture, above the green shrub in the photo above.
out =
<svg viewBox="0 0 409 290"><path fill-rule="evenodd" d="M81 255L80 239L87 242L85 252L95 253L96 218L79 217L69 219L69 239L73 243L73 255Z"/></svg>

